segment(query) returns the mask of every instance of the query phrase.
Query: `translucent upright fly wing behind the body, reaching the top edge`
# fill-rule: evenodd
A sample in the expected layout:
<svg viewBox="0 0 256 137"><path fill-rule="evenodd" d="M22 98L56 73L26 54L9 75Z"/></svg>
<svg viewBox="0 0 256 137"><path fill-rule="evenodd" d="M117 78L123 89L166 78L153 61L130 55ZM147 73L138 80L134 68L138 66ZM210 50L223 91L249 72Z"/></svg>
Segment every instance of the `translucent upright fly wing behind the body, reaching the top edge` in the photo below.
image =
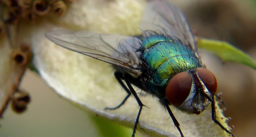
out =
<svg viewBox="0 0 256 137"><path fill-rule="evenodd" d="M198 57L194 37L186 18L181 10L170 2L149 2L145 8L140 29L175 36L191 46Z"/></svg>

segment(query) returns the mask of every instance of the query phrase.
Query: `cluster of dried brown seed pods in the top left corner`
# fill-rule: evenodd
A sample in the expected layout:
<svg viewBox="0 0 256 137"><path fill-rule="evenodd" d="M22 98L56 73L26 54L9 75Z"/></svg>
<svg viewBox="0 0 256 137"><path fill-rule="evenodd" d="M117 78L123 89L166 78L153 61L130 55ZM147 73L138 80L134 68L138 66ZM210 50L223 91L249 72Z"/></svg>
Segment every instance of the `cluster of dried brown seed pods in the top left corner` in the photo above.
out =
<svg viewBox="0 0 256 137"><path fill-rule="evenodd" d="M1 0L7 6L4 24L15 24L21 18L28 18L33 23L37 16L46 15L50 11L57 13L59 17L66 14L66 3L77 0ZM0 30L1 31L1 30Z"/></svg>

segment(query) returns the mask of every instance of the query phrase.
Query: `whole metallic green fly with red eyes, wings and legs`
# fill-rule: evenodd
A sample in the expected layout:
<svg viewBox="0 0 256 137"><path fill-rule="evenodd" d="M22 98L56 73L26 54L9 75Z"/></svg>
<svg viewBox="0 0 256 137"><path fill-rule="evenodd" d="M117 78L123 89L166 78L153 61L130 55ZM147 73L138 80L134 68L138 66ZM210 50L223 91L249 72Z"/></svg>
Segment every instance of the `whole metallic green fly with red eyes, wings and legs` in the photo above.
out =
<svg viewBox="0 0 256 137"><path fill-rule="evenodd" d="M193 34L180 9L165 1L149 2L140 29L142 35L135 37L63 30L49 32L46 37L66 49L113 65L114 75L127 96L118 106L106 109L117 109L130 95L135 97L140 108L132 137L144 104L131 85L159 99L182 137L170 105L199 115L211 103L212 120L234 137L216 120L217 80L201 62Z"/></svg>

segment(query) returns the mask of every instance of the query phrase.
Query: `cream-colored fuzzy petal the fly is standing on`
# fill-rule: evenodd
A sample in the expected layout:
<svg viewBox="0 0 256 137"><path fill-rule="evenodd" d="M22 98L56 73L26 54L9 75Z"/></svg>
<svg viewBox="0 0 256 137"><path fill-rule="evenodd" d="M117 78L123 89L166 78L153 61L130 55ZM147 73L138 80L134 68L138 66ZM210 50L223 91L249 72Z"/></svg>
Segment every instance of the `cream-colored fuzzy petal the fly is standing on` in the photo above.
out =
<svg viewBox="0 0 256 137"><path fill-rule="evenodd" d="M42 26L33 28L33 63L42 78L62 97L98 116L132 128L138 112L134 97L130 97L117 110L104 111L105 107L118 105L126 96L126 92L114 78L111 65L66 50L44 37L45 32L56 29L56 25L62 26L62 29L132 35L135 33L134 28L139 26L145 6L144 2L136 0L98 0L95 1L98 2L96 4L91 2L78 1L61 21L52 20L51 23L44 22ZM180 136L173 121L168 119L169 114L156 98L146 95L140 96L140 99L149 108L144 107L141 112L138 131L150 136ZM173 107L172 111L186 137L229 136L212 121L210 107L199 116L184 114ZM218 108L217 111L219 117L224 117ZM227 126L224 120L221 121Z"/></svg>

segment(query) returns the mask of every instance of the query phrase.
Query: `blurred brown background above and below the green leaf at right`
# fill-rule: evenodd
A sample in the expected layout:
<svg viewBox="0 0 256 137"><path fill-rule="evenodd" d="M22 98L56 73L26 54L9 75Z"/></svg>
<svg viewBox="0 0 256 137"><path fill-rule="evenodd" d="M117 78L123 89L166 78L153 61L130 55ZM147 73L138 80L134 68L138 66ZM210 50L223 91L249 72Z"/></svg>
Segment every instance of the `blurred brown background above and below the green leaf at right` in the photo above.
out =
<svg viewBox="0 0 256 137"><path fill-rule="evenodd" d="M184 9L196 36L224 40L256 60L256 1L217 0L193 2ZM249 67L223 63L207 51L199 50L206 67L218 80L218 92L226 104L224 115L231 117L232 133L256 135L256 73Z"/></svg>

